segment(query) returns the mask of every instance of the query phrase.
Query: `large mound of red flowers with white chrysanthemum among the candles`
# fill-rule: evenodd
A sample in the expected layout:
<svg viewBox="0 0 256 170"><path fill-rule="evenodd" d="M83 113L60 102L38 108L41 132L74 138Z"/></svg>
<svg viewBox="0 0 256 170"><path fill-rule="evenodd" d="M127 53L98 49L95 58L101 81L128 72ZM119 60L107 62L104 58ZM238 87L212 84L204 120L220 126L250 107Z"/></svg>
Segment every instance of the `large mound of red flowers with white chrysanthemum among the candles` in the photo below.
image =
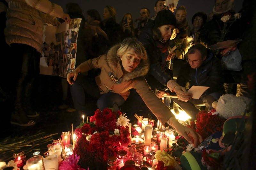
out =
<svg viewBox="0 0 256 170"><path fill-rule="evenodd" d="M80 125L75 130L78 137L74 153L80 156L79 164L82 167L106 166L108 156L116 155L119 150L129 153L131 144L130 133L127 128L129 119L120 111L116 113L105 108L95 111L90 122Z"/></svg>

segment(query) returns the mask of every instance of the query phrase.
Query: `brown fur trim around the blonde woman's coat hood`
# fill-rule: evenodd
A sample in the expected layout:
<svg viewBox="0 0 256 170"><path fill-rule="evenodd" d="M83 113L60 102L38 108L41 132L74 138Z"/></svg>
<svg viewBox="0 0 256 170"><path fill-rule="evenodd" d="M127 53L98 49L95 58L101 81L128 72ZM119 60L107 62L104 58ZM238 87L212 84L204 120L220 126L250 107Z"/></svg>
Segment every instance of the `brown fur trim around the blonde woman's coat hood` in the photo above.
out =
<svg viewBox="0 0 256 170"><path fill-rule="evenodd" d="M122 69L123 66L120 62L120 57L116 55L118 48L121 45L115 45L108 50L108 54L106 57L106 63L111 68L111 70ZM149 61L141 60L138 67L132 72L126 73L123 75L123 81L129 81L135 78L139 78L141 76L145 76L149 70Z"/></svg>

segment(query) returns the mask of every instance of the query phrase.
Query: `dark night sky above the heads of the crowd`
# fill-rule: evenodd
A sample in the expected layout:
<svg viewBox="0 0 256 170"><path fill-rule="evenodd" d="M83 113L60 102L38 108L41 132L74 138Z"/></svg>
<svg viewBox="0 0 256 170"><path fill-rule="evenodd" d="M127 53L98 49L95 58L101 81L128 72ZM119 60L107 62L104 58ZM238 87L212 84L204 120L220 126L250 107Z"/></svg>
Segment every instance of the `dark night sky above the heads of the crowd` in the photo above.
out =
<svg viewBox="0 0 256 170"><path fill-rule="evenodd" d="M103 9L106 5L113 6L116 9L116 22L120 23L126 12L130 12L133 16L133 22L139 18L140 9L146 7L150 10L150 17L155 16L154 6L156 0L50 0L51 2L60 5L63 11L66 12L65 5L69 2L77 3L83 10L84 17L86 19L86 11L90 9L96 9L99 11L101 19ZM234 0L234 10L238 12L242 8L243 0ZM212 8L215 5L215 0L180 0L178 5L185 5L187 8L188 24L192 27L191 18L199 11L205 12L207 15L212 12ZM137 27L137 23L135 23Z"/></svg>

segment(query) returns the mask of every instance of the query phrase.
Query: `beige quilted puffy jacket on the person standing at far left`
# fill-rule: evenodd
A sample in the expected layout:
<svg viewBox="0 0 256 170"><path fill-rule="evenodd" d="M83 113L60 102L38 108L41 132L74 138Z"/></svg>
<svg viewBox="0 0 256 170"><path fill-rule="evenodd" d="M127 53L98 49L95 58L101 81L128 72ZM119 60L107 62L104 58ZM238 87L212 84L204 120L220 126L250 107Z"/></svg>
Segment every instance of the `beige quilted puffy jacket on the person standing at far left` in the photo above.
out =
<svg viewBox="0 0 256 170"><path fill-rule="evenodd" d="M4 29L7 44L20 43L42 51L44 23L56 25L63 9L48 0L6 0L9 8Z"/></svg>

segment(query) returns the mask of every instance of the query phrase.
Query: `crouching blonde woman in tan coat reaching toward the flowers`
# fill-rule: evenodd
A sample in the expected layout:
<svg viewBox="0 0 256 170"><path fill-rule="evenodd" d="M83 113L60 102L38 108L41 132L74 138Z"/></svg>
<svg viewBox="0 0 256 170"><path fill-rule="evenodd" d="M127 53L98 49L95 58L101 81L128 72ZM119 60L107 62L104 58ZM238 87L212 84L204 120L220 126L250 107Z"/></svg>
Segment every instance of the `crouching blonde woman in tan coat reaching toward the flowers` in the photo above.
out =
<svg viewBox="0 0 256 170"><path fill-rule="evenodd" d="M81 73L90 69L101 69L100 75L95 79L83 77ZM202 142L202 137L193 129L181 125L171 110L149 88L144 78L148 70L149 61L143 44L136 38L126 38L121 45L112 47L106 55L89 59L68 73L67 81L71 85L74 107L84 107L85 91L98 98L97 107L100 110L112 107L117 111L127 99L129 90L135 89L165 127L171 125L190 144L197 146Z"/></svg>

